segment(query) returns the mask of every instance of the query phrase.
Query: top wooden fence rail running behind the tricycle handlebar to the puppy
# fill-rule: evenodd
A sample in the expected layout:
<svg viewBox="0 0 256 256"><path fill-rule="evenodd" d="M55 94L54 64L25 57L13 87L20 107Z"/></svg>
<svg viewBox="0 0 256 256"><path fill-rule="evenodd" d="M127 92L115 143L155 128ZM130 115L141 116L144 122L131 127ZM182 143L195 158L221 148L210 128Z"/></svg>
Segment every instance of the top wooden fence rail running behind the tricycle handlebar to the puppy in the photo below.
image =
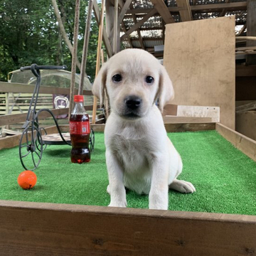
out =
<svg viewBox="0 0 256 256"><path fill-rule="evenodd" d="M22 93L33 93L35 85L26 85L17 82L0 82L0 92L22 92ZM43 94L63 94L69 95L69 88L41 86L40 93ZM78 93L78 90L75 90ZM92 95L90 90L83 90L82 95Z"/></svg>

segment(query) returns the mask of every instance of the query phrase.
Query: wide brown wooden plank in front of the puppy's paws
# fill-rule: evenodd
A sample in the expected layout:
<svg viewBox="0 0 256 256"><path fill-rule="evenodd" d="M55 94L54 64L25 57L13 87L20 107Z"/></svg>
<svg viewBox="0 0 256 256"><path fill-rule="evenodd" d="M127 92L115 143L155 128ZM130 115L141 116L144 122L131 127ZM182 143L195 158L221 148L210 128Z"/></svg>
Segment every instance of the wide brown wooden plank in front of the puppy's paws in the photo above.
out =
<svg viewBox="0 0 256 256"><path fill-rule="evenodd" d="M0 249L30 255L254 255L256 217L0 201Z"/></svg>

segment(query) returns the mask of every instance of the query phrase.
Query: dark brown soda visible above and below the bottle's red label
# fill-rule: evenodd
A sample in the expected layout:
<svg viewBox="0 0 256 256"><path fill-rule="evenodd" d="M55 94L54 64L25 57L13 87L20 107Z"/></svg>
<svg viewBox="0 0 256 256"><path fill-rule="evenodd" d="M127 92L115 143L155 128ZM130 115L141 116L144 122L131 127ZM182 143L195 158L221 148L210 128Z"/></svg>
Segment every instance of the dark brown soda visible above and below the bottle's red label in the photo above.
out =
<svg viewBox="0 0 256 256"><path fill-rule="evenodd" d="M88 114L71 114L70 122L89 122L89 116ZM70 134L70 139L72 144L71 161L78 164L90 161L90 134Z"/></svg>

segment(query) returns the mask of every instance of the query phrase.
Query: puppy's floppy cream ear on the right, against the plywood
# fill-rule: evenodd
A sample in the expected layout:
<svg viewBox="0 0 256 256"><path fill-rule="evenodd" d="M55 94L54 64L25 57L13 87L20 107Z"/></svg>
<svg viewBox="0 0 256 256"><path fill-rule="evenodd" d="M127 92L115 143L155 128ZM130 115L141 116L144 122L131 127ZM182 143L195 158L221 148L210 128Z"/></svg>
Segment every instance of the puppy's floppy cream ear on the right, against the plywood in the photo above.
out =
<svg viewBox="0 0 256 256"><path fill-rule="evenodd" d="M163 65L161 65L159 72L159 109L163 112L166 103L174 99L174 87Z"/></svg>

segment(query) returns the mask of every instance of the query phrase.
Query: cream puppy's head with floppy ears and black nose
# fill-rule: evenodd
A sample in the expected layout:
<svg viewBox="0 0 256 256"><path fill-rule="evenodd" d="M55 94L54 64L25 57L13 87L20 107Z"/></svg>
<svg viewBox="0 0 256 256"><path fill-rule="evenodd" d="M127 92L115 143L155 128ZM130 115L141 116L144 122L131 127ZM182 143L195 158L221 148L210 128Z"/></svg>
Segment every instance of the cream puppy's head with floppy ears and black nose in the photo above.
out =
<svg viewBox="0 0 256 256"><path fill-rule="evenodd" d="M165 68L145 50L127 49L107 61L95 78L92 93L102 104L105 90L111 110L125 119L144 117L159 99L161 111L174 98Z"/></svg>

